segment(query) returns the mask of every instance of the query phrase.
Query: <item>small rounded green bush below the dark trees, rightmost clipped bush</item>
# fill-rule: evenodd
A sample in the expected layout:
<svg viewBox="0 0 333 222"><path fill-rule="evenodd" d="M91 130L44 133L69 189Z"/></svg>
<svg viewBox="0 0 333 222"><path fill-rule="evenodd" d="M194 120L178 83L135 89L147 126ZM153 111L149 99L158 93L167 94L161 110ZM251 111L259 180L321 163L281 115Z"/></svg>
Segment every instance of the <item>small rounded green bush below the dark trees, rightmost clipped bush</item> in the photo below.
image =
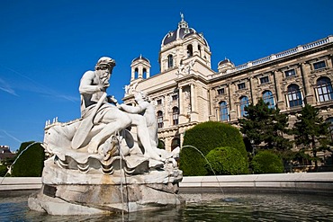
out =
<svg viewBox="0 0 333 222"><path fill-rule="evenodd" d="M284 173L282 159L268 150L260 151L251 161L253 173Z"/></svg>

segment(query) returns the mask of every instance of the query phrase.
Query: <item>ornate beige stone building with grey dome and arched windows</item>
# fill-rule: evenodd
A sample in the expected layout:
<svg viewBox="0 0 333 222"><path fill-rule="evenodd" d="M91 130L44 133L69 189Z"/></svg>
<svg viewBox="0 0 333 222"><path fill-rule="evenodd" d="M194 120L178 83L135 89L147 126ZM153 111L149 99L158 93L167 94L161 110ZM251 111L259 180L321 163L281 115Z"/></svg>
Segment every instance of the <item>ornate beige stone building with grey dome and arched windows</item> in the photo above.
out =
<svg viewBox="0 0 333 222"><path fill-rule="evenodd" d="M184 132L208 120L238 124L249 103L259 98L288 113L293 123L306 103L333 122L333 36L235 67L224 59L211 69L211 49L202 33L181 21L163 38L160 73L139 56L131 63L130 84L122 99L133 104L134 91L148 93L157 111L158 138L172 150Z"/></svg>

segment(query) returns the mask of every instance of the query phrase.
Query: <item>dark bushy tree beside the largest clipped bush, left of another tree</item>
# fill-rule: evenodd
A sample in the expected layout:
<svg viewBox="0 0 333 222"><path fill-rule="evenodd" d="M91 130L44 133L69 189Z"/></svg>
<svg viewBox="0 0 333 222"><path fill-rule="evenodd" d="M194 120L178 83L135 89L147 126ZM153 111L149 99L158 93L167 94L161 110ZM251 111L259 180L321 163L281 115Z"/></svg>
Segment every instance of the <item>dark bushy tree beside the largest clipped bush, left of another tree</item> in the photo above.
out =
<svg viewBox="0 0 333 222"><path fill-rule="evenodd" d="M278 108L268 107L263 99L256 105L249 104L245 107L247 115L239 119L240 131L246 135L252 145L265 149L283 151L291 147L289 139L284 134L289 134L288 115L280 113Z"/></svg>

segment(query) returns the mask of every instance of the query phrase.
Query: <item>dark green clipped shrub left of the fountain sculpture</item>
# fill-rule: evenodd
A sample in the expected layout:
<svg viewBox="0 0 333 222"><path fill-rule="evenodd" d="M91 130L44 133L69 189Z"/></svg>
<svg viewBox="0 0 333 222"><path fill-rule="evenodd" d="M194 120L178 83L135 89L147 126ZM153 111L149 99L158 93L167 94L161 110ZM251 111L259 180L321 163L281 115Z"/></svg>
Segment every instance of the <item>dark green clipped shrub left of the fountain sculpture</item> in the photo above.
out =
<svg viewBox="0 0 333 222"><path fill-rule="evenodd" d="M33 142L24 142L21 144L18 155L30 146ZM38 177L41 176L44 167L45 153L44 148L39 143L31 145L26 149L13 165L12 176Z"/></svg>

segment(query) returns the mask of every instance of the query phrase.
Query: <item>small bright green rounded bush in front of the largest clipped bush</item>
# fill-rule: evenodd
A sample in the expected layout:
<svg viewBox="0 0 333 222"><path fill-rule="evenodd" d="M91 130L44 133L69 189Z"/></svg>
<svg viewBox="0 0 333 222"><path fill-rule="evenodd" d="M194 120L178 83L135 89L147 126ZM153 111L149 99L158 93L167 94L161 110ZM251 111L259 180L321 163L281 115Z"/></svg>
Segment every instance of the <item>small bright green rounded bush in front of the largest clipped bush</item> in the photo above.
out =
<svg viewBox="0 0 333 222"><path fill-rule="evenodd" d="M248 173L247 158L240 154L236 148L218 147L206 155L207 161L204 166L211 175L237 175Z"/></svg>

